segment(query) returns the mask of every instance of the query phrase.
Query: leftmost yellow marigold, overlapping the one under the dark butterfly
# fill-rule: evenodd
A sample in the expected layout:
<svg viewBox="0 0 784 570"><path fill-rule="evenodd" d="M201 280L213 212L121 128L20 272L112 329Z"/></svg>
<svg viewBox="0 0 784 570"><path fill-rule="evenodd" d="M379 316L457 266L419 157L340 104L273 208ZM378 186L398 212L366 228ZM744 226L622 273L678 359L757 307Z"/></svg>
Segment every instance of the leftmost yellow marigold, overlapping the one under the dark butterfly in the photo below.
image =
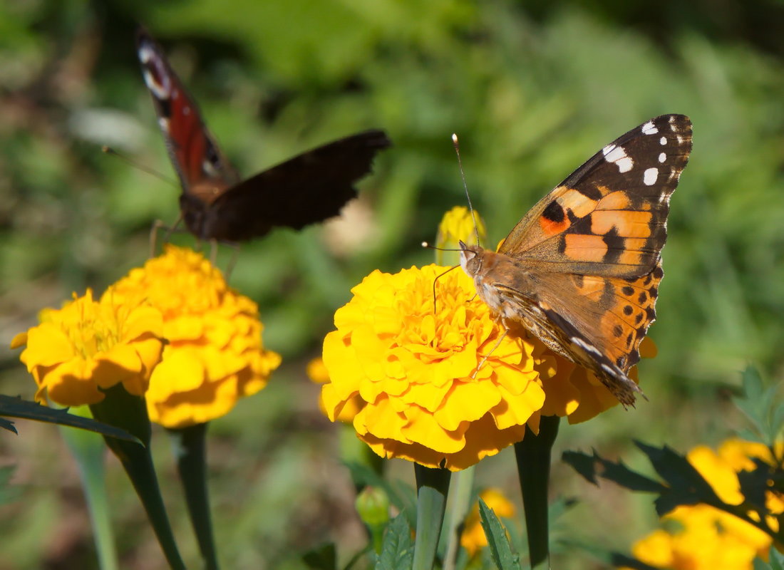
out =
<svg viewBox="0 0 784 570"><path fill-rule="evenodd" d="M93 300L93 291L45 309L41 324L13 339L11 348L27 345L20 360L38 384L35 399L47 396L60 405L96 404L103 390L117 383L137 396L163 350L161 312L143 303Z"/></svg>

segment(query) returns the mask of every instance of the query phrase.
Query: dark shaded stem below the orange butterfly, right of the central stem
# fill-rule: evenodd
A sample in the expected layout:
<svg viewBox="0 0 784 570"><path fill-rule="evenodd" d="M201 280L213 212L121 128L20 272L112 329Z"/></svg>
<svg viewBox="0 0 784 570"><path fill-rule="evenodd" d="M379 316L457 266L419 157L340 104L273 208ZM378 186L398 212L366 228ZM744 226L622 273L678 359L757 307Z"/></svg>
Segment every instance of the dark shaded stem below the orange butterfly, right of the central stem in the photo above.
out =
<svg viewBox="0 0 784 570"><path fill-rule="evenodd" d="M523 441L514 445L531 568L546 563L550 557L547 486L550 481L550 452L558 434L559 419L558 416L543 416L539 435L526 427Z"/></svg>

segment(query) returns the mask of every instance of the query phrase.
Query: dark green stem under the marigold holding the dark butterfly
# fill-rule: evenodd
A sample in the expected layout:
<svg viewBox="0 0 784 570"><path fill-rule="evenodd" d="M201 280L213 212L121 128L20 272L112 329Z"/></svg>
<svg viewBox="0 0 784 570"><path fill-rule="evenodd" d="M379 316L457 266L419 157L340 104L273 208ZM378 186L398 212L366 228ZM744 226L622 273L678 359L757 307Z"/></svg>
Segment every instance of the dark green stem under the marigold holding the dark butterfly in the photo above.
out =
<svg viewBox="0 0 784 570"><path fill-rule="evenodd" d="M217 570L218 555L215 536L212 533L212 517L209 514L209 493L207 489L206 435L207 424L179 430L169 430L172 437L177 470L185 491L188 514L191 516L201 558L206 570Z"/></svg>

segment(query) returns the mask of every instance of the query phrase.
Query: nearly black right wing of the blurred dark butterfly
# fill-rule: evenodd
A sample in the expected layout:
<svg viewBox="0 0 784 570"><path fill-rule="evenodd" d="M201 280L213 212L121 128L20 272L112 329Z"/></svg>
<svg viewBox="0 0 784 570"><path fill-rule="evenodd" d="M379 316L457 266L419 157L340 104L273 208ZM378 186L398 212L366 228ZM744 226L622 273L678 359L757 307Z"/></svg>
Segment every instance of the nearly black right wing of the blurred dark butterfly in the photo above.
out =
<svg viewBox="0 0 784 570"><path fill-rule="evenodd" d="M357 197L354 187L372 171L376 153L390 147L372 129L299 154L231 187L212 203L207 237L244 241L273 227L299 230L337 216Z"/></svg>

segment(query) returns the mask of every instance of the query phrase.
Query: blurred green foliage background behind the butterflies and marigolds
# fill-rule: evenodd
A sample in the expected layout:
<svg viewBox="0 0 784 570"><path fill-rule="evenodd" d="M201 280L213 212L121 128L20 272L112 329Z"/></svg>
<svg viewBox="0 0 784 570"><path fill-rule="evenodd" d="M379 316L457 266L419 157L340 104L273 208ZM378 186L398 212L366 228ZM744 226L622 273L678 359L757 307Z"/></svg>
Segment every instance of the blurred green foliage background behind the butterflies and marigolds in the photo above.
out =
<svg viewBox="0 0 784 570"><path fill-rule="evenodd" d="M688 114L694 151L673 196L659 356L641 363L650 402L564 426L557 450L596 447L643 467L633 437L686 451L741 424L728 404L749 362L782 376L784 3L702 0L469 2L79 2L0 4L0 347L71 291L100 292L147 257L176 184L101 153L169 166L134 51L137 23L164 45L212 133L245 176L361 129L387 129L362 197L338 223L242 248L232 284L260 303L284 357L266 390L212 424L212 503L226 568L301 568L328 539L364 541L336 427L304 369L332 313L374 268L430 263L441 215L474 205L495 244L546 191L626 130ZM175 241L192 244L187 236ZM230 252L223 252L225 263ZM2 393L32 398L18 352L0 348ZM84 499L56 429L2 434L22 498L0 507L0 568L95 568ZM165 437L154 452L176 534L197 559ZM162 568L143 512L110 461L123 568ZM392 477L411 481L410 464ZM481 485L519 501L510 451ZM655 524L650 499L590 488L557 462L554 568L599 568L579 546L627 550ZM519 503L518 503L519 504ZM585 521L591 521L586 525Z"/></svg>

